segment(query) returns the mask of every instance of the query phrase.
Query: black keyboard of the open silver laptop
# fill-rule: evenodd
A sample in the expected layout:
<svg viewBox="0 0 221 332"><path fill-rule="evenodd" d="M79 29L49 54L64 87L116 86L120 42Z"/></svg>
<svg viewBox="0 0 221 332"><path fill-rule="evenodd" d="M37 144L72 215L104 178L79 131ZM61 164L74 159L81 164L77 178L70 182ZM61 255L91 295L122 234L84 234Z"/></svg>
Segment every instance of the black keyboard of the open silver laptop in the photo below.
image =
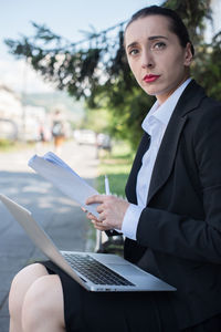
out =
<svg viewBox="0 0 221 332"><path fill-rule="evenodd" d="M72 268L95 284L135 286L90 255L62 253Z"/></svg>

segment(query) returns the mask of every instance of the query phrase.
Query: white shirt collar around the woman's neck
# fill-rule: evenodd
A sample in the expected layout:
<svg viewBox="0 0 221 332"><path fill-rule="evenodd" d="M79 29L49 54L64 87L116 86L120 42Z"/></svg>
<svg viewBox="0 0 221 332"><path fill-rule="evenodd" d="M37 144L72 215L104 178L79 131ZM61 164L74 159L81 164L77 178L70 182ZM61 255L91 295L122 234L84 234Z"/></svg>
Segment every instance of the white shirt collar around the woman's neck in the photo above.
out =
<svg viewBox="0 0 221 332"><path fill-rule="evenodd" d="M146 115L145 120L143 121L141 127L145 132L148 133L148 125L149 125L149 120L151 120L151 116L157 118L165 126L168 125L179 97L181 96L183 90L187 87L187 85L190 83L191 80L192 79L186 80L161 105L159 105L158 101L155 102L149 113Z"/></svg>

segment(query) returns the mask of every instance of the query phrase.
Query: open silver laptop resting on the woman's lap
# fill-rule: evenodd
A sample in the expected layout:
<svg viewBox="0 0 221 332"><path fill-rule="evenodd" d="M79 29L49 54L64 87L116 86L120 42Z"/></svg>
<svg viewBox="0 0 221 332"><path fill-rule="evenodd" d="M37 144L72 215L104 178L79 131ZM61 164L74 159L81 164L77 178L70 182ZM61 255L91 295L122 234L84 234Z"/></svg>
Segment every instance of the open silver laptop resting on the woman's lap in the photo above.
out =
<svg viewBox="0 0 221 332"><path fill-rule="evenodd" d="M9 197L0 199L42 252L88 291L176 291L117 255L60 251L32 214Z"/></svg>

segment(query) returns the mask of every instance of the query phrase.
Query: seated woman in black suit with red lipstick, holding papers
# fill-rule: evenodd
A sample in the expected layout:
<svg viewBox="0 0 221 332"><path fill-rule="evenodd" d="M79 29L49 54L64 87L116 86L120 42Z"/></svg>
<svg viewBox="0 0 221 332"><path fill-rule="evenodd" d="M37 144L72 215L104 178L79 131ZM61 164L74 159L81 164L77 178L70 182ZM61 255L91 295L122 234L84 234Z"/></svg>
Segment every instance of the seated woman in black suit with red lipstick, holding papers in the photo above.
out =
<svg viewBox="0 0 221 332"><path fill-rule="evenodd" d="M157 101L126 186L128 201L93 196L95 228L123 232L125 257L177 288L91 293L52 262L14 278L10 331L221 330L221 106L190 79L193 46L177 14L145 8L126 27L125 50Z"/></svg>

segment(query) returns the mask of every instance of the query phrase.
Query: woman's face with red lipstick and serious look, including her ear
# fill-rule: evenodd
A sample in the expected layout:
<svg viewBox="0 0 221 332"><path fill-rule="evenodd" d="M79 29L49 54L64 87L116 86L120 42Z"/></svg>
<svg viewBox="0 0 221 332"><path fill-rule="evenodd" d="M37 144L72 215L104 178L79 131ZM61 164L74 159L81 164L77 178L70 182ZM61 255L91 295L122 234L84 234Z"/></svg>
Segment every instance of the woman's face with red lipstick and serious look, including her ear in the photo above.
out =
<svg viewBox="0 0 221 332"><path fill-rule="evenodd" d="M125 32L126 54L135 79L160 104L186 81L192 60L190 43L182 48L169 23L166 17L148 15L130 23Z"/></svg>

